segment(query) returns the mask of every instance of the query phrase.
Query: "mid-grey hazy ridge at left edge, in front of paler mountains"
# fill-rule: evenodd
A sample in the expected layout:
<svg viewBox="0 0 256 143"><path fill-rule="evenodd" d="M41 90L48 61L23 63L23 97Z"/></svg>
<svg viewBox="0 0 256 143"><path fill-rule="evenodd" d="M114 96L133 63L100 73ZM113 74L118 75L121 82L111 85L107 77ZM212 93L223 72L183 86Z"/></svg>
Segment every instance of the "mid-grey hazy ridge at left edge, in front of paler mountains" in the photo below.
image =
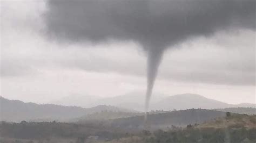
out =
<svg viewBox="0 0 256 143"><path fill-rule="evenodd" d="M24 103L0 96L0 120L4 121L69 121L74 118L102 111L131 112L130 110L110 105L80 108L78 106Z"/></svg>

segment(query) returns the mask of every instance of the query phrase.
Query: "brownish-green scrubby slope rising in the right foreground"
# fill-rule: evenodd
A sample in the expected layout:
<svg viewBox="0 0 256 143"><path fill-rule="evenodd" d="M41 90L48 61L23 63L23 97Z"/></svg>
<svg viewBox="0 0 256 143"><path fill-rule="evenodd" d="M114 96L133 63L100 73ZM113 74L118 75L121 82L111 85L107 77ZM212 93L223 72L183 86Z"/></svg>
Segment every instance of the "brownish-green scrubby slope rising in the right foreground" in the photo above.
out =
<svg viewBox="0 0 256 143"><path fill-rule="evenodd" d="M218 118L201 125L187 125L186 128L173 126L167 131L142 131L128 138L109 143L121 142L256 142L256 115L239 115L227 112L225 118Z"/></svg>

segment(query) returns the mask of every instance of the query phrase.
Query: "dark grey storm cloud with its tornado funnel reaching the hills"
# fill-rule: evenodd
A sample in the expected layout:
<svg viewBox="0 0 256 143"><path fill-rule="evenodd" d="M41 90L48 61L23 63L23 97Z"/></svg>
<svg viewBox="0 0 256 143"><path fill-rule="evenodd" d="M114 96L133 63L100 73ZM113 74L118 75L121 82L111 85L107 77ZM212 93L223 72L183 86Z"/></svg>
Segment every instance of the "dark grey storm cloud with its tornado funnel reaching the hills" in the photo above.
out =
<svg viewBox="0 0 256 143"><path fill-rule="evenodd" d="M57 1L44 15L47 36L59 42L135 41L147 54L147 111L163 53L187 39L223 30L255 30L253 0Z"/></svg>

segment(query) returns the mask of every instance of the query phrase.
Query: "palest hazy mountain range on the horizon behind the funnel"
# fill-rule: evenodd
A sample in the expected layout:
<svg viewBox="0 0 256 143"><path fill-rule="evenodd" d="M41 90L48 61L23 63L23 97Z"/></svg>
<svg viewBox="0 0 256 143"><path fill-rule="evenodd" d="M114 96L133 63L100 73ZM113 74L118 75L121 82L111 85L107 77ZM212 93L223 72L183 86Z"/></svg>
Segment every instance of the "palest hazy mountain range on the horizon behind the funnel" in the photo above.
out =
<svg viewBox="0 0 256 143"><path fill-rule="evenodd" d="M99 98L96 96L68 96L52 103L61 105L77 105L82 107L92 107L97 105L112 105L119 108L144 111L145 95L143 92L131 92L130 94ZM70 104L72 103L72 104ZM77 104L76 104L77 103ZM252 107L256 104L241 103L228 104L214 99L209 99L196 94L180 94L167 96L163 94L153 94L150 101L150 110L183 110L191 108L217 109L217 108L235 108Z"/></svg>

